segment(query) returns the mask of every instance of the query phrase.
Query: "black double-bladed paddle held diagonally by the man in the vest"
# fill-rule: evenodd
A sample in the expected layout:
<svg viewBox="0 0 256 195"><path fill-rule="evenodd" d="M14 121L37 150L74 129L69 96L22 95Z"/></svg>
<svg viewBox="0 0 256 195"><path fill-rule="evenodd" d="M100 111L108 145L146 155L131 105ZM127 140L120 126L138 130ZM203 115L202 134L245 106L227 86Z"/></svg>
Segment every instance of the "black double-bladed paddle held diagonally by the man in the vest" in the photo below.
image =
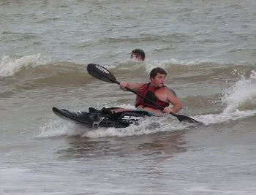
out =
<svg viewBox="0 0 256 195"><path fill-rule="evenodd" d="M105 67L103 66L100 66L98 64L88 64L87 71L89 72L89 74L91 74L91 76L97 78L98 80L102 80L108 83L116 83L120 85L120 82L116 80L116 77L114 77L114 75L108 69L105 69ZM136 91L133 91L130 88L126 87L126 89L127 91L131 91L132 93L135 93L137 96L140 96L141 98L146 99L148 102L151 102L151 104L156 105L159 108L159 110L164 110L164 107L160 106L156 102L153 102L151 99L148 99L145 96L142 96L140 93L137 93ZM173 112L170 112L170 115L173 115L176 118L178 118L178 121L180 122L185 121L188 123L201 123L185 115L177 115Z"/></svg>

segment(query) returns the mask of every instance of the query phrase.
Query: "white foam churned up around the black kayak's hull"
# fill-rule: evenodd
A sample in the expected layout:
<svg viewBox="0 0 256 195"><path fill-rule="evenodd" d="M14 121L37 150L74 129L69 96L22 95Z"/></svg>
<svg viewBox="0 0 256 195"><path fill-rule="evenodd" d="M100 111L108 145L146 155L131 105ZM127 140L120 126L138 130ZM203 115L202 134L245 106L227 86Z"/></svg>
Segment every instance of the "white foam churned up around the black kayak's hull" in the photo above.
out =
<svg viewBox="0 0 256 195"><path fill-rule="evenodd" d="M110 105L105 105L110 107ZM111 107L124 107L134 108L131 104L111 105ZM46 137L61 137L61 136L81 136L81 137L127 137L127 136L140 136L143 134L154 134L160 131L177 131L188 129L192 124L180 123L178 119L173 118L171 115L166 118L148 117L137 125L131 125L127 128L102 128L91 129L86 126L79 126L67 121L49 121L44 126L39 127L39 135L37 138Z"/></svg>

